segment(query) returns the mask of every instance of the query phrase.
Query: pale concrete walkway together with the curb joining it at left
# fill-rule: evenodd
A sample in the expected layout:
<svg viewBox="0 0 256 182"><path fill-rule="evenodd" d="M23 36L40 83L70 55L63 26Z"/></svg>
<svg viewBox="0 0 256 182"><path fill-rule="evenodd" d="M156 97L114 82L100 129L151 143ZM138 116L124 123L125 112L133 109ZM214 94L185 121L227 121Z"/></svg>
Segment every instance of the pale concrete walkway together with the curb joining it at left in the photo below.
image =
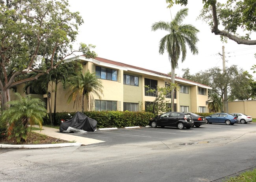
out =
<svg viewBox="0 0 256 182"><path fill-rule="evenodd" d="M100 142L104 142L102 140L95 140L92 138L85 138L82 136L74 136L69 135L67 133L59 132L59 129L52 128L52 127L45 127L43 129L35 130L36 133L41 133L47 136L51 136L54 138L58 138L61 140L67 140L73 143L64 143L64 144L31 144L31 145L9 145L9 144L0 144L0 148L48 148L48 147L67 147L67 146L81 146L81 145L89 145L89 144L96 144Z"/></svg>

